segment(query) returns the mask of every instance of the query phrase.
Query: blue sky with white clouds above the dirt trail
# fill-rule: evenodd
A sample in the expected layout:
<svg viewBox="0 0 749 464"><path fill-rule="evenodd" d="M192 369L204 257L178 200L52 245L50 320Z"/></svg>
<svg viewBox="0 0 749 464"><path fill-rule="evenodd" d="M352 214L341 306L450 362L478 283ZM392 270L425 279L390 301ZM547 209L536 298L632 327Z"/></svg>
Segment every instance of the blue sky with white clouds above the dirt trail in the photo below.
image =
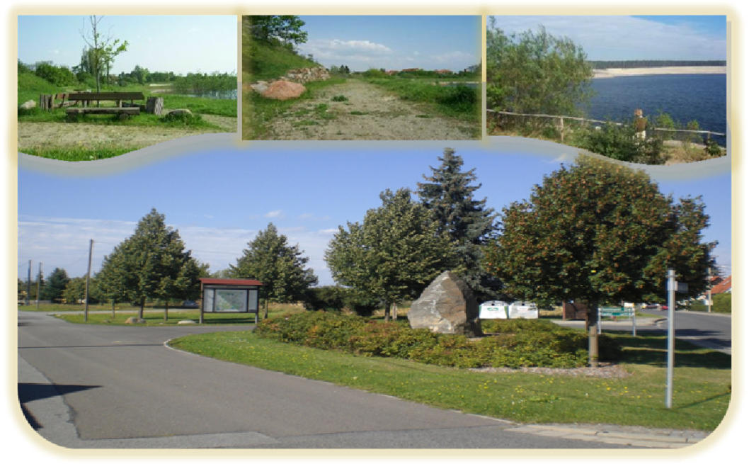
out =
<svg viewBox="0 0 749 464"><path fill-rule="evenodd" d="M453 71L481 61L481 16L301 16L300 44L326 67Z"/></svg>

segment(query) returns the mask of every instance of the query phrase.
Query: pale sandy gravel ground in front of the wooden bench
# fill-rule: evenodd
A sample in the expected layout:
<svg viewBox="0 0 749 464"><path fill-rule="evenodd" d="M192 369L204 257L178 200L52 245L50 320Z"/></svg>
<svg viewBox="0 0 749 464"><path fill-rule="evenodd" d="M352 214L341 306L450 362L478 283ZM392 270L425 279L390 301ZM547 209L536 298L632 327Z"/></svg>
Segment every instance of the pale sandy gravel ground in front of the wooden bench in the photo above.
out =
<svg viewBox="0 0 749 464"><path fill-rule="evenodd" d="M237 131L237 118L216 115L201 116L205 121L218 125L225 132ZM216 130L85 123L19 122L18 151L23 152L28 148L97 148L102 145L136 150L166 142L166 140L207 132L216 132Z"/></svg>

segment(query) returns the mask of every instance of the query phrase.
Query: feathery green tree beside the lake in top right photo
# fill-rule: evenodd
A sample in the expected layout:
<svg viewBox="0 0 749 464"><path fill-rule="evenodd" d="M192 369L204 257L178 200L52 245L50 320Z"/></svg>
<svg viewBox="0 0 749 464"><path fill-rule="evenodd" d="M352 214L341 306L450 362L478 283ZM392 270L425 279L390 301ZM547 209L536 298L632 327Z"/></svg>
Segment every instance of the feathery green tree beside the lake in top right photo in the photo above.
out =
<svg viewBox="0 0 749 464"><path fill-rule="evenodd" d="M486 35L487 107L572 115L590 97L592 67L580 46L545 28L506 35L491 18Z"/></svg>

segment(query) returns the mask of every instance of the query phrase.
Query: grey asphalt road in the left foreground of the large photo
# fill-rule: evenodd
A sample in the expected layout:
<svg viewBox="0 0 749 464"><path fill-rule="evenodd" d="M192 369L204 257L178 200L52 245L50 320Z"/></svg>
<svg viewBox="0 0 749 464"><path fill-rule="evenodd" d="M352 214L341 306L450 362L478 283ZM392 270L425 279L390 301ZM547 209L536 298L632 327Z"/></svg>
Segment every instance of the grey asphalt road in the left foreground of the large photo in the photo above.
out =
<svg viewBox="0 0 749 464"><path fill-rule="evenodd" d="M242 328L87 326L24 312L18 325L22 409L67 448L629 448L164 346Z"/></svg>

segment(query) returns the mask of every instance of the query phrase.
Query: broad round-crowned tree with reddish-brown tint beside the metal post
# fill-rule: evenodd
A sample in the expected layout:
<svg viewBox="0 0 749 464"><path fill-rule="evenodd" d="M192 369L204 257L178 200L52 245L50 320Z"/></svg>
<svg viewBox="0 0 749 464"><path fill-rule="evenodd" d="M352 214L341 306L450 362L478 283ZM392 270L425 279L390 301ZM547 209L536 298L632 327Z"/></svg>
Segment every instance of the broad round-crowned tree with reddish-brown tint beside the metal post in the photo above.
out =
<svg viewBox="0 0 749 464"><path fill-rule="evenodd" d="M599 304L661 300L667 268L688 283L688 295L703 292L715 265L715 244L702 243L707 223L700 199L673 203L642 171L578 157L530 199L503 208L502 234L485 260L516 298L586 302L595 367Z"/></svg>

